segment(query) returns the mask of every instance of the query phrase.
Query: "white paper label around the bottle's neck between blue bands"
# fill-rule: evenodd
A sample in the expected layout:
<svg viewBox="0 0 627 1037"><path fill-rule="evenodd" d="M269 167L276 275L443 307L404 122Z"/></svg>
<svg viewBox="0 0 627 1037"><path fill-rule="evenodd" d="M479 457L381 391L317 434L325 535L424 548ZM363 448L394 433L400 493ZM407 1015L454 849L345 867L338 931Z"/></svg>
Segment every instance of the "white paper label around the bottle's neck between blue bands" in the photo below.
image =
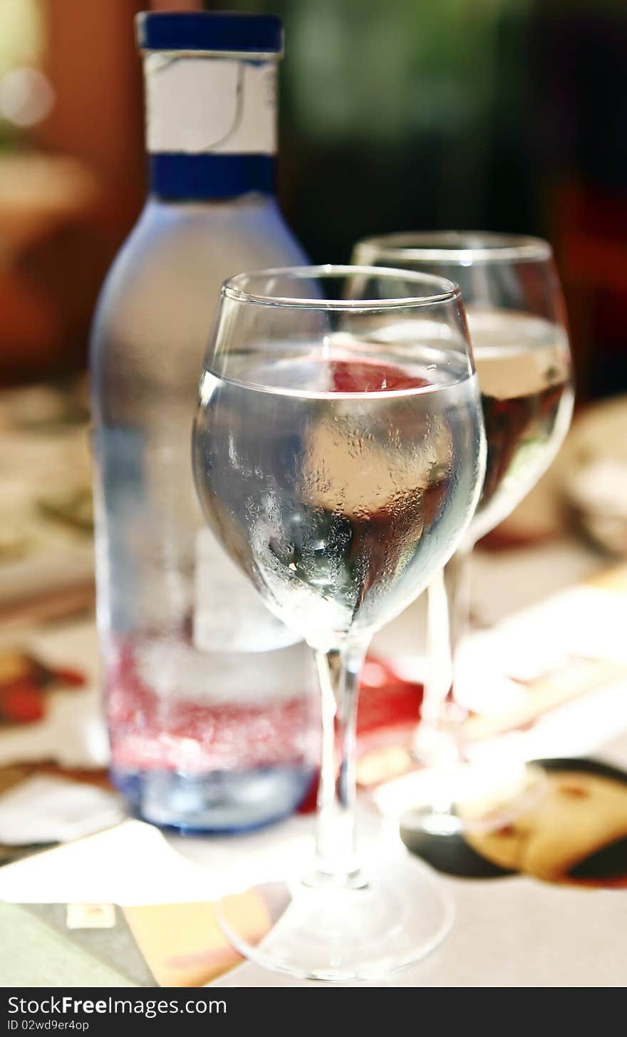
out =
<svg viewBox="0 0 627 1037"><path fill-rule="evenodd" d="M148 151L274 155L276 62L145 59Z"/></svg>

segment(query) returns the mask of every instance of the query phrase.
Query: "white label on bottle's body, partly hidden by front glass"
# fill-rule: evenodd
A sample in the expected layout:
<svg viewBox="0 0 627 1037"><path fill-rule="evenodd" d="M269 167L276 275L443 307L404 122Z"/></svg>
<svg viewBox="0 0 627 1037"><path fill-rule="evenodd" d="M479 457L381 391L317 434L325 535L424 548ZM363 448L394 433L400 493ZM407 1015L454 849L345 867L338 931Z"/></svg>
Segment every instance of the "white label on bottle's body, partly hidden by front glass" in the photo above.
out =
<svg viewBox="0 0 627 1037"><path fill-rule="evenodd" d="M194 647L265 652L299 641L268 611L254 587L209 529L196 533Z"/></svg>

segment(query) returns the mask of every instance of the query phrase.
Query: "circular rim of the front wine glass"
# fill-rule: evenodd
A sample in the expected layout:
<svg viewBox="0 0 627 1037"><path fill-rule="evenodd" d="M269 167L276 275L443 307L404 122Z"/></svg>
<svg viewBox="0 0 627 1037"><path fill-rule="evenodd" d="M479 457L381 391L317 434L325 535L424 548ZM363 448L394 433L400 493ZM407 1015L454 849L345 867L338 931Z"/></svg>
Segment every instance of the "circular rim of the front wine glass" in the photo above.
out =
<svg viewBox="0 0 627 1037"><path fill-rule="evenodd" d="M426 295L402 296L396 299L303 299L295 296L277 296L271 292L250 291L245 287L254 279L268 280L271 277L293 277L293 278L332 278L349 277L351 275L371 275L373 277L402 278L414 284L431 285L438 291ZM317 309L317 310L350 310L350 311L375 311L388 309L412 309L417 306L433 306L436 303L445 303L461 300L461 291L455 281L448 278L439 277L437 274L427 274L421 271L403 270L393 267L372 267L367 264L351 263L322 263L307 267L306 264L294 267L271 267L267 270L247 271L229 277L222 284L221 296L233 299L237 302L250 303L256 306L274 306L285 309Z"/></svg>

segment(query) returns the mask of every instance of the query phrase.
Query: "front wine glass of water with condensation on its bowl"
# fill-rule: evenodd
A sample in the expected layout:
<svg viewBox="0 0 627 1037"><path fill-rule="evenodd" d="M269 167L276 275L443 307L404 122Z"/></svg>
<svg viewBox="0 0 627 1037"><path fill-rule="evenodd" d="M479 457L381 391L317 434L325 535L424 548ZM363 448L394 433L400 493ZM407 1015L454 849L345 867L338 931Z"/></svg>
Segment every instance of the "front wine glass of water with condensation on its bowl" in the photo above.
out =
<svg viewBox="0 0 627 1037"><path fill-rule="evenodd" d="M479 498L485 439L457 285L330 265L227 281L193 465L211 528L312 648L322 697L314 859L253 888L255 936L237 896L220 924L293 975L404 968L442 938L451 906L400 841L358 852L357 682L373 633L445 563Z"/></svg>

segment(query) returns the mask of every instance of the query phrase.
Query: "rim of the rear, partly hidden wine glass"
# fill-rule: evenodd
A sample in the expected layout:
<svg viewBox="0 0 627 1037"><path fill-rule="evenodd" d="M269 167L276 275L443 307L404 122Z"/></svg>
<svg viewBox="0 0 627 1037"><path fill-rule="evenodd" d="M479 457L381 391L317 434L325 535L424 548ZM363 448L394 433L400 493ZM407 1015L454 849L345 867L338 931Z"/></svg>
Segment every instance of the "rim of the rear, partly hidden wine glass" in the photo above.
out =
<svg viewBox="0 0 627 1037"><path fill-rule="evenodd" d="M355 245L377 250L384 260L422 260L428 262L546 261L553 250L542 237L527 234L503 234L485 230L419 230L391 234L373 234ZM464 263L464 259L467 263Z"/></svg>

